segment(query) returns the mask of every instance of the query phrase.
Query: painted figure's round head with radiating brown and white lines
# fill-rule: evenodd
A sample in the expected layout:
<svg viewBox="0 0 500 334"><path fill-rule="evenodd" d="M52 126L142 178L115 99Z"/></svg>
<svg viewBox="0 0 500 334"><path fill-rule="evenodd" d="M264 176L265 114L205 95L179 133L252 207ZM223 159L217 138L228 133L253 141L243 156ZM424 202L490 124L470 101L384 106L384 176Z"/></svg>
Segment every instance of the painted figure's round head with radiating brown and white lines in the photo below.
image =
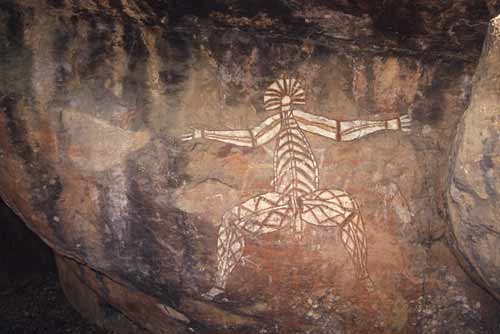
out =
<svg viewBox="0 0 500 334"><path fill-rule="evenodd" d="M285 96L290 98L283 99ZM283 105L286 103L286 105ZM276 80L264 94L264 108L267 111L279 110L281 107L292 107L297 104L306 104L306 94L299 80L283 77Z"/></svg>

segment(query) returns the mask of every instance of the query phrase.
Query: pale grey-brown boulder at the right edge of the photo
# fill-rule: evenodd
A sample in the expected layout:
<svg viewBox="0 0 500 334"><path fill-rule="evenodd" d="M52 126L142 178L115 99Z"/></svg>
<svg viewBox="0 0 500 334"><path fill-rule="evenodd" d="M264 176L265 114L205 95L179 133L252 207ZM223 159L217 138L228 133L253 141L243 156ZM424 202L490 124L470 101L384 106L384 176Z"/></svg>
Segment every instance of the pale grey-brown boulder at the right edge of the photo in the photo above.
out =
<svg viewBox="0 0 500 334"><path fill-rule="evenodd" d="M448 202L456 249L500 298L500 17L490 23L471 104L460 123Z"/></svg>

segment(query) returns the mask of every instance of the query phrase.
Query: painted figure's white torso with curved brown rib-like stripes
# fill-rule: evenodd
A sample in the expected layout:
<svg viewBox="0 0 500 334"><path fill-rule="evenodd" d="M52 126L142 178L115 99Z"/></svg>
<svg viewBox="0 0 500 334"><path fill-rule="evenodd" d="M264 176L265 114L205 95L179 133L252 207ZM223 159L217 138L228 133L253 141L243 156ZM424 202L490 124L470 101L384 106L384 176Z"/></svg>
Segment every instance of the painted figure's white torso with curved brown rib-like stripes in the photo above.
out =
<svg viewBox="0 0 500 334"><path fill-rule="evenodd" d="M314 154L293 113L282 113L274 151L274 190L298 198L318 189Z"/></svg>

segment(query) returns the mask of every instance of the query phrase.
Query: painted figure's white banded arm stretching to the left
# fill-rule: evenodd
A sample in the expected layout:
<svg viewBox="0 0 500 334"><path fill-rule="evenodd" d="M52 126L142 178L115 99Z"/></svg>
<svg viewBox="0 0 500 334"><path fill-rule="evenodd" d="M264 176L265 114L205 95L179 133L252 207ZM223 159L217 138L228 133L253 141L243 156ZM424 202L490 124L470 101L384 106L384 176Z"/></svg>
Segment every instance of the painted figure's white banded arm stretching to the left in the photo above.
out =
<svg viewBox="0 0 500 334"><path fill-rule="evenodd" d="M253 129L244 130L202 130L193 129L191 133L181 137L183 141L193 139L210 139L237 146L257 147L273 139L281 126L280 115L266 118Z"/></svg>

